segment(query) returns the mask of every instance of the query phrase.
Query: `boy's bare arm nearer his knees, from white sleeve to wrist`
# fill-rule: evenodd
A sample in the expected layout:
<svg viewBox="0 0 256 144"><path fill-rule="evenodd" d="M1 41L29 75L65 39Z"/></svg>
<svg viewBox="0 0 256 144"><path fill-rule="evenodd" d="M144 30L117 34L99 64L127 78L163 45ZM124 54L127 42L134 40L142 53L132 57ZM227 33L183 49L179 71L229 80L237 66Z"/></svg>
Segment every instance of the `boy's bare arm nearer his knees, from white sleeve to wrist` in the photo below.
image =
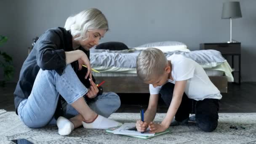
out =
<svg viewBox="0 0 256 144"><path fill-rule="evenodd" d="M169 125L171 124L171 121L173 120L173 117L175 116L177 110L179 109L182 96L186 87L186 83L187 83L187 80L175 82L171 105L168 108L167 114L161 123L165 128L169 127Z"/></svg>

